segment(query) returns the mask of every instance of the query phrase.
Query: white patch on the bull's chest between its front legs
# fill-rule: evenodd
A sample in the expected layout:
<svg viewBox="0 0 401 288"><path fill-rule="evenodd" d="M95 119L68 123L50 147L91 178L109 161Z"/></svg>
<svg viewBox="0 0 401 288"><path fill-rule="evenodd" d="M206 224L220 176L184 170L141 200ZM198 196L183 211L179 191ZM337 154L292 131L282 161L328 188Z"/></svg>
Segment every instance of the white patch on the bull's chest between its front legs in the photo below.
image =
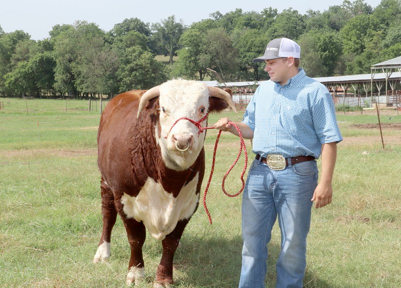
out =
<svg viewBox="0 0 401 288"><path fill-rule="evenodd" d="M162 240L172 232L178 220L187 219L193 214L199 200L199 194L195 193L198 176L197 173L183 186L177 197L148 177L136 197L126 193L121 197L123 211L128 218L143 221L149 233Z"/></svg>

